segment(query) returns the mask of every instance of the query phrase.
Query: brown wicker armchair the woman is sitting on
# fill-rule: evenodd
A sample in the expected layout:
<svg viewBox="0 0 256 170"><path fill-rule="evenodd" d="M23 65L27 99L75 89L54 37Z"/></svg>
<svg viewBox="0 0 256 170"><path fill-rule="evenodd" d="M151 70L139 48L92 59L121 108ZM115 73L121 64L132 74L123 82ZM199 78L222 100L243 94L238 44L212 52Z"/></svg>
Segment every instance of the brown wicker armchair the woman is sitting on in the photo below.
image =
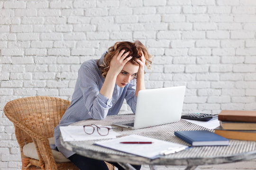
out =
<svg viewBox="0 0 256 170"><path fill-rule="evenodd" d="M48 141L69 105L67 100L47 96L25 97L5 105L4 113L14 124L20 146L22 170L79 170L70 161L56 163ZM39 160L23 154L23 146L33 142ZM113 165L107 165L114 170Z"/></svg>

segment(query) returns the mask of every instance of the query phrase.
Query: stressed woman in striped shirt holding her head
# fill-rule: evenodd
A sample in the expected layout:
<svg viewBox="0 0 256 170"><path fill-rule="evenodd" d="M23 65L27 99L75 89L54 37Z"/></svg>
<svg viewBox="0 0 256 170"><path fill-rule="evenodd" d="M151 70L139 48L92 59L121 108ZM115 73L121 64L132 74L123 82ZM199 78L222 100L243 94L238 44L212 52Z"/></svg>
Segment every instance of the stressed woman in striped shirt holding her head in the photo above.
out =
<svg viewBox="0 0 256 170"><path fill-rule="evenodd" d="M108 170L104 161L66 150L59 141L59 127L85 119L101 120L109 115L117 115L124 99L135 113L137 94L145 89L144 68L145 65L150 68L151 57L139 41L116 42L98 61L91 59L82 64L71 105L55 128L57 149L79 169ZM111 164L122 170L119 164ZM134 167L140 169L140 166Z"/></svg>

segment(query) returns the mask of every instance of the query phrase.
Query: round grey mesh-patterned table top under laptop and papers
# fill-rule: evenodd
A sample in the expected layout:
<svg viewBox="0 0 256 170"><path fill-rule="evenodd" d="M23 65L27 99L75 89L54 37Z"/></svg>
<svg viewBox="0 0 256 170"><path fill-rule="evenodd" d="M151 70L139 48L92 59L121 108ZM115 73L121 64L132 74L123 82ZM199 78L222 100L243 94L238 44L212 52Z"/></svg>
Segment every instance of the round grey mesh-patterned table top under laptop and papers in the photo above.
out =
<svg viewBox="0 0 256 170"><path fill-rule="evenodd" d="M114 122L133 120L133 114L124 114L117 116L108 116L104 120L88 119L72 124L73 126L81 125L111 125ZM117 127L112 125L112 127ZM154 127L146 127L141 129L123 128L118 130L121 136L137 134L141 136L152 137L160 140L170 141L174 143L189 145L182 139L174 136L177 130L210 130L192 124L185 120L178 122L159 125ZM211 129L210 131L214 131ZM119 137L121 137L119 136ZM70 141L62 144L69 150L84 156L102 159L106 161L121 161L134 164L158 164L158 165L203 165L203 164L219 164L233 161L243 161L256 158L256 142L243 140L229 140L228 146L198 146L192 147L178 153L165 155L155 160L150 160L140 156L123 153L101 146L93 145L95 141Z"/></svg>

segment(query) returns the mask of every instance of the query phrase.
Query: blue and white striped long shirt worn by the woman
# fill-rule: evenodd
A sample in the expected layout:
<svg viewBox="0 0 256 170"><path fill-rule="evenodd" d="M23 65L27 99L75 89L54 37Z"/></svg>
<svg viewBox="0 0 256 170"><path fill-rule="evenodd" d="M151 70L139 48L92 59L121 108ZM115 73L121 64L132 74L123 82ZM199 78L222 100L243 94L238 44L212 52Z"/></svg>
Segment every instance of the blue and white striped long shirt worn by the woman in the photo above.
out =
<svg viewBox="0 0 256 170"><path fill-rule="evenodd" d="M105 53L100 59L100 64L103 62L104 55ZM112 99L100 93L104 80L105 78L101 76L101 70L97 66L97 59L82 63L78 71L71 105L65 111L59 125L55 128L55 145L67 158L73 155L74 152L65 149L60 144L60 126L68 126L85 119L101 120L109 115L117 115L124 99L126 99L127 104L135 113L137 104L135 79L123 88L115 85Z"/></svg>

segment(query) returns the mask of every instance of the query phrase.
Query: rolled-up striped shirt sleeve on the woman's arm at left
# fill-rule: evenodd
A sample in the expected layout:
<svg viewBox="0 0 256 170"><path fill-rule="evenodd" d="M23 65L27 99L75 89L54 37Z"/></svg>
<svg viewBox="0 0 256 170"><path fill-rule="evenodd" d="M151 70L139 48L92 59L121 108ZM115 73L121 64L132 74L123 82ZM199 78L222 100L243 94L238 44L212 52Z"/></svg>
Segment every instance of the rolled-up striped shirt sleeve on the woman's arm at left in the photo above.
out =
<svg viewBox="0 0 256 170"><path fill-rule="evenodd" d="M112 107L111 99L100 93L99 73L95 67L82 65L78 72L79 87L82 91L83 104L92 119L105 119L109 109Z"/></svg>

